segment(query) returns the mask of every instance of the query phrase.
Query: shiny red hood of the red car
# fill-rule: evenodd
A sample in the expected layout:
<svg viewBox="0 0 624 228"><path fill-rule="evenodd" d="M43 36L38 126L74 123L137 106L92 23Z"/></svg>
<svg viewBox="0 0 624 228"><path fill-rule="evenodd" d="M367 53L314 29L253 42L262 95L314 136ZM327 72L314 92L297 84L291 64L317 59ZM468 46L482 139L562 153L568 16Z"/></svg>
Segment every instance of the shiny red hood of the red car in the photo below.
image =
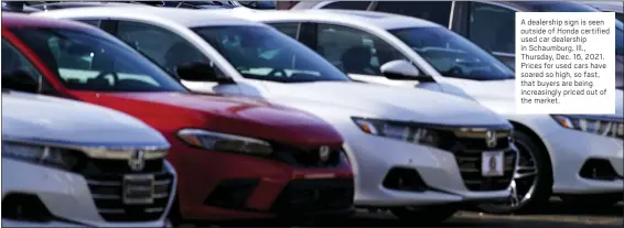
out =
<svg viewBox="0 0 624 228"><path fill-rule="evenodd" d="M132 115L170 138L184 128L252 137L294 146L340 146L320 118L263 100L182 93L73 93L80 100Z"/></svg>

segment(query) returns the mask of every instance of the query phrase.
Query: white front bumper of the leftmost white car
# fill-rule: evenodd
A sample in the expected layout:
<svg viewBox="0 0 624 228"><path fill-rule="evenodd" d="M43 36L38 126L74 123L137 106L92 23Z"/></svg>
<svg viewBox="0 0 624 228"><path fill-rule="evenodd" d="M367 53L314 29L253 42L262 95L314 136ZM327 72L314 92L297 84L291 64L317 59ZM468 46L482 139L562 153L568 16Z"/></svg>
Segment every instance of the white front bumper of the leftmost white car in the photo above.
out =
<svg viewBox="0 0 624 228"><path fill-rule="evenodd" d="M8 227L165 227L162 216L147 221L108 221L94 200L94 194L83 175L45 167L12 159L2 159L2 198L12 194L36 196L52 215L47 221L11 220ZM93 187L93 185L92 185ZM174 191L174 189L173 189Z"/></svg>

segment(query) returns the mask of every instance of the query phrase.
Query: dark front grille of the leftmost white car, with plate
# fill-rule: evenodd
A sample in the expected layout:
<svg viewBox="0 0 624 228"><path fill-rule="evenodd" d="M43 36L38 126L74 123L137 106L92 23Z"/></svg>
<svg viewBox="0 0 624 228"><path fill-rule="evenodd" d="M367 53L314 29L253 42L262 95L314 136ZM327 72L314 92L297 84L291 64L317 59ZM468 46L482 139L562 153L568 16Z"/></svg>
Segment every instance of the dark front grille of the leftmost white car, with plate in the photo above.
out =
<svg viewBox="0 0 624 228"><path fill-rule="evenodd" d="M173 188L174 176L164 169L162 159L146 161L140 172L131 171L125 160L89 160L79 173L107 221L158 220Z"/></svg>

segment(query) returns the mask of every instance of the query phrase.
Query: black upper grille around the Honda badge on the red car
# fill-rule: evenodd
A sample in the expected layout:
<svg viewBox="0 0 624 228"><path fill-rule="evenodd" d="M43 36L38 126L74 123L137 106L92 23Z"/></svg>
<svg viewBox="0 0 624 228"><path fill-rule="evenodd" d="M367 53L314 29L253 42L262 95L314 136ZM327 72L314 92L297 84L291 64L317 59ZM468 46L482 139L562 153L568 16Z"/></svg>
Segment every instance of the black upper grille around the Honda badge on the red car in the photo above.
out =
<svg viewBox="0 0 624 228"><path fill-rule="evenodd" d="M340 148L330 149L327 160L323 161L319 153L320 148L299 149L281 144L272 146L272 159L297 167L337 167L346 162L346 154Z"/></svg>

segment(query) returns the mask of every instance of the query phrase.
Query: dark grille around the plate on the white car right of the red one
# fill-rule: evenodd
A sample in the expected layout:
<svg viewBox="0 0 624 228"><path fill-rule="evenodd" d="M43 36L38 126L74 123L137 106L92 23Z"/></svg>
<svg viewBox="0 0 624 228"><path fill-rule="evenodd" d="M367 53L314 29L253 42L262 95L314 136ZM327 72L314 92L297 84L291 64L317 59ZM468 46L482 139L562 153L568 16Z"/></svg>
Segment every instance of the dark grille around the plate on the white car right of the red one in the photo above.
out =
<svg viewBox="0 0 624 228"><path fill-rule="evenodd" d="M455 160L464 185L470 191L503 191L507 189L514 176L517 153L510 149L509 131L497 131L495 146L488 146L485 132L454 132L450 150L455 154ZM482 154L485 151L504 152L504 173L502 176L482 175Z"/></svg>

